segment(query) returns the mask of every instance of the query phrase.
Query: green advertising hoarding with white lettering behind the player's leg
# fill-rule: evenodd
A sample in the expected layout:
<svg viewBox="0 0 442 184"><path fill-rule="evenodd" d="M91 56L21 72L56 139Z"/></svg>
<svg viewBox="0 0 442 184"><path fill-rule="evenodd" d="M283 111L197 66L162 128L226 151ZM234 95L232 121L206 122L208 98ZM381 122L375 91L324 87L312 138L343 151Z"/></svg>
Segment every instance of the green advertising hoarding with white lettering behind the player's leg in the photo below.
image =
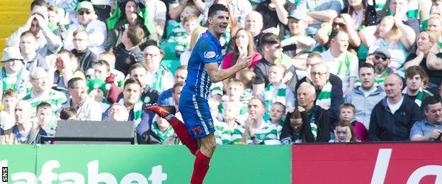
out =
<svg viewBox="0 0 442 184"><path fill-rule="evenodd" d="M6 183L188 183L185 146L0 146ZM290 183L290 146L217 146L207 183ZM5 177L6 176L6 177Z"/></svg>

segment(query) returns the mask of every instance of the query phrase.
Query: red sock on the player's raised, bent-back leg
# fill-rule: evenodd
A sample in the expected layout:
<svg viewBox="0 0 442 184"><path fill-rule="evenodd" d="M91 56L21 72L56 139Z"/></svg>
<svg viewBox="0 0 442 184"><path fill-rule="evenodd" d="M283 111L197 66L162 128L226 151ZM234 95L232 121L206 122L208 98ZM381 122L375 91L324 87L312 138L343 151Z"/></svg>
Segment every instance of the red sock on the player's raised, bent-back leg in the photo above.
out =
<svg viewBox="0 0 442 184"><path fill-rule="evenodd" d="M181 142L187 146L193 155L198 151L198 143L194 140L191 135L188 133L186 125L183 122L178 120L176 117L171 117L169 123L174 128L176 135L179 137Z"/></svg>

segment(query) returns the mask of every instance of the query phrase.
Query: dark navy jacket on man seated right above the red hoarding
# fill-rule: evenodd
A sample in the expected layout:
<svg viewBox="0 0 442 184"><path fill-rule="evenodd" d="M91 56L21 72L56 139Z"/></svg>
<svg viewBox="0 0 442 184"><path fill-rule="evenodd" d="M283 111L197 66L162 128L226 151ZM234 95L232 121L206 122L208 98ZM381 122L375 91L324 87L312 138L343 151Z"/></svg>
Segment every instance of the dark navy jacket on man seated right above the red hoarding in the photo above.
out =
<svg viewBox="0 0 442 184"><path fill-rule="evenodd" d="M387 98L375 105L370 115L370 141L406 141L414 122L424 119L421 108L407 96L403 96L402 105L392 114L387 105Z"/></svg>

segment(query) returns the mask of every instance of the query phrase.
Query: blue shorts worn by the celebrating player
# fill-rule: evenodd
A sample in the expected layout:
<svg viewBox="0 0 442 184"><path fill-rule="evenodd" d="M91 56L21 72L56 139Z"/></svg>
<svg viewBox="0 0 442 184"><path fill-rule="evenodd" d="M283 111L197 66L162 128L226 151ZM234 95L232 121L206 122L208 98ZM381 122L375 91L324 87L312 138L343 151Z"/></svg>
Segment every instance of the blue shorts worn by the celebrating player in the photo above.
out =
<svg viewBox="0 0 442 184"><path fill-rule="evenodd" d="M208 100L205 98L181 91L179 111L193 139L201 139L215 132Z"/></svg>

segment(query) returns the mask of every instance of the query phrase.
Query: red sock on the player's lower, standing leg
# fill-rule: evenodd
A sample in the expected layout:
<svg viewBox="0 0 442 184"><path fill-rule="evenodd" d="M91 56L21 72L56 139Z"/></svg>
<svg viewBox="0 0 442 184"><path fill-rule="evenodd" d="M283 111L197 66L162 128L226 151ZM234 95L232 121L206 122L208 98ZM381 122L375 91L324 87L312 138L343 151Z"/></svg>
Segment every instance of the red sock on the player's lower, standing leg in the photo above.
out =
<svg viewBox="0 0 442 184"><path fill-rule="evenodd" d="M195 163L193 163L193 174L191 184L202 184L205 174L209 171L210 157L205 156L201 151L196 154Z"/></svg>

